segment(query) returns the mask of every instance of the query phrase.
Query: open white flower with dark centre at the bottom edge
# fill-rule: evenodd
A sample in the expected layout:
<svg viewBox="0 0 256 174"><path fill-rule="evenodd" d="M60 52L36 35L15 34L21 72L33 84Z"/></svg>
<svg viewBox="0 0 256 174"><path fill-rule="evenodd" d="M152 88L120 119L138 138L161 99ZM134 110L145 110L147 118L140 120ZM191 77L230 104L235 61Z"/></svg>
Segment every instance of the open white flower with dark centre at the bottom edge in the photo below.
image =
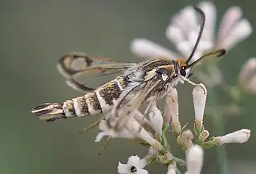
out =
<svg viewBox="0 0 256 174"><path fill-rule="evenodd" d="M121 162L119 162L117 170L120 174L148 174L148 171L143 169L145 165L147 165L146 160L140 159L140 157L136 155L129 157L127 164L121 164Z"/></svg>

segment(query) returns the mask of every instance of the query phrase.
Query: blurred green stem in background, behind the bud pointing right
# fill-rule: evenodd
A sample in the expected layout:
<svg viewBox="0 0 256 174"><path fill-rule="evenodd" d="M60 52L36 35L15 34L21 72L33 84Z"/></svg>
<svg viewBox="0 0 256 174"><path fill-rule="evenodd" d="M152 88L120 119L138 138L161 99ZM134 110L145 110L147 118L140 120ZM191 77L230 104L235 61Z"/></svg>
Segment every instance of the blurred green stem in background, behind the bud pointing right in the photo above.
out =
<svg viewBox="0 0 256 174"><path fill-rule="evenodd" d="M217 107L218 101L216 99L216 92L213 88L208 88L209 91L209 97L207 100L207 103L211 106L211 107ZM211 110L211 117L212 117L212 125L214 128L214 134L216 135L223 135L224 133L224 120L223 120L223 115L222 113L218 110L218 109L212 109ZM220 170L217 173L221 173L221 174L227 174L228 173L228 159L227 159L227 153L226 153L226 149L225 146L218 146L216 148L217 151L217 165L219 166L218 169Z"/></svg>

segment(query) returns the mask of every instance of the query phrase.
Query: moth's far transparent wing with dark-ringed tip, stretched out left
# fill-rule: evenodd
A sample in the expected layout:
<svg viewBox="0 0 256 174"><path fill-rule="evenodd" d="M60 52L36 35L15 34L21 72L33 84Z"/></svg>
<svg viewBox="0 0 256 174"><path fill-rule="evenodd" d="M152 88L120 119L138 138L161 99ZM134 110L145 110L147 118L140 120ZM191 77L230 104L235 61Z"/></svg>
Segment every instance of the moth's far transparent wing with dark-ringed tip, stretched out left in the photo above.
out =
<svg viewBox="0 0 256 174"><path fill-rule="evenodd" d="M68 86L87 92L111 80L118 74L133 67L135 63L120 62L106 57L97 57L81 52L64 54L57 62L57 69L67 78Z"/></svg>

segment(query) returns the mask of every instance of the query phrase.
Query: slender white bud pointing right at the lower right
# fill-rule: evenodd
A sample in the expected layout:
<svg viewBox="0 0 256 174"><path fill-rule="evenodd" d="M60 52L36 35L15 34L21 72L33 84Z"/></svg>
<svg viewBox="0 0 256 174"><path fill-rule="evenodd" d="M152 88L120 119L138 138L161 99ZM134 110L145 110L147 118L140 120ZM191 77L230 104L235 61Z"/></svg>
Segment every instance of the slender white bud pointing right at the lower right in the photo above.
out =
<svg viewBox="0 0 256 174"><path fill-rule="evenodd" d="M228 133L225 136L217 136L213 139L213 141L218 144L228 144L228 143L245 143L249 140L251 136L251 130L249 129L241 129L237 130L233 133Z"/></svg>

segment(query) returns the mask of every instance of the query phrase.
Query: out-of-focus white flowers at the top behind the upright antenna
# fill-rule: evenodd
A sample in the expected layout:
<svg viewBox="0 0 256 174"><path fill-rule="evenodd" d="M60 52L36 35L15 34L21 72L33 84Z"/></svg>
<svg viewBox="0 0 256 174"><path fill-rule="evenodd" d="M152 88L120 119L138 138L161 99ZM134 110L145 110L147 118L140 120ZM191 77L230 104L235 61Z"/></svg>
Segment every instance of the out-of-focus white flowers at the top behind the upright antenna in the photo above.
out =
<svg viewBox="0 0 256 174"><path fill-rule="evenodd" d="M198 58L205 51L211 49L231 49L240 41L248 38L252 33L252 26L249 21L242 18L240 7L230 7L225 12L221 22L217 40L215 41L215 20L216 8L212 1L201 1L199 3L206 16L204 32L201 37L198 49L194 55ZM172 59L177 57L188 57L196 42L199 33L199 21L197 20L193 7L185 7L172 17L166 30L166 36L182 56L162 46L157 45L145 38L136 38L132 41L132 51L140 57L169 56Z"/></svg>

